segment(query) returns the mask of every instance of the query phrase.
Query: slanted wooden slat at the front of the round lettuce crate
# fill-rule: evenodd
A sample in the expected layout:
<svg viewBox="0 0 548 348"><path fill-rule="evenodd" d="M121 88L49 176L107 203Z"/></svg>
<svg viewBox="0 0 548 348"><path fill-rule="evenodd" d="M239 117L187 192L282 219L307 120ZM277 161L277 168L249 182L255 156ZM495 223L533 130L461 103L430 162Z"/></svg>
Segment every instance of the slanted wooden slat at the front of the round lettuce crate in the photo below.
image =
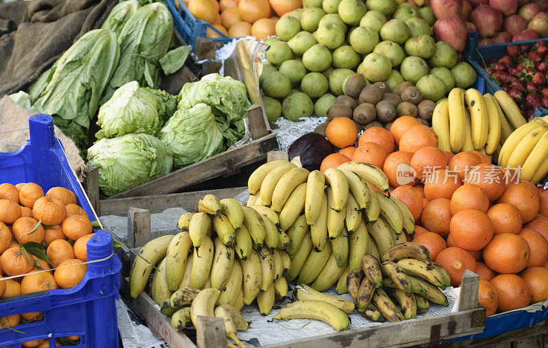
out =
<svg viewBox="0 0 548 348"><path fill-rule="evenodd" d="M268 151L276 149L278 149L276 137L274 134L269 134L241 147L236 147L236 149L219 153L195 164L190 164L190 166L173 171L146 184L130 188L110 197L110 199L161 195L176 190L183 190L189 186L223 175L225 173L226 160L232 159L234 166L239 168L264 160Z"/></svg>

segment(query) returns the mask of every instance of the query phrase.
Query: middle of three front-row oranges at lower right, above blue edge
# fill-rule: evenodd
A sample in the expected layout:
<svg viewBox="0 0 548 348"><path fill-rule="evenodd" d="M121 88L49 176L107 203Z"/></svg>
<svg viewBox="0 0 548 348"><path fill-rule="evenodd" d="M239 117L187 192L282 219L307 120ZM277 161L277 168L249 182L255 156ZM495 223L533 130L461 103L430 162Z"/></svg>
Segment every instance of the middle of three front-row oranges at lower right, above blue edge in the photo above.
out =
<svg viewBox="0 0 548 348"><path fill-rule="evenodd" d="M497 312L506 312L529 306L532 295L525 279L516 274L497 275L490 281L499 294Z"/></svg>

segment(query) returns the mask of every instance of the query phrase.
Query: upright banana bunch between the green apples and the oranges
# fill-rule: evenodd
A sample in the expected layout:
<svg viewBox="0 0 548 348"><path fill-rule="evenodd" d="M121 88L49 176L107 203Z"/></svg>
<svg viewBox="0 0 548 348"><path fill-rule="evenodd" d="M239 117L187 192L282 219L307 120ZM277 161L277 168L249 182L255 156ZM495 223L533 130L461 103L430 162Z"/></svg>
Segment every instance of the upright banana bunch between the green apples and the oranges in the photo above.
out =
<svg viewBox="0 0 548 348"><path fill-rule="evenodd" d="M440 101L432 114L432 129L438 134L443 151L458 153L477 150L495 154L525 118L507 92L482 95L470 88L453 88L447 100Z"/></svg>

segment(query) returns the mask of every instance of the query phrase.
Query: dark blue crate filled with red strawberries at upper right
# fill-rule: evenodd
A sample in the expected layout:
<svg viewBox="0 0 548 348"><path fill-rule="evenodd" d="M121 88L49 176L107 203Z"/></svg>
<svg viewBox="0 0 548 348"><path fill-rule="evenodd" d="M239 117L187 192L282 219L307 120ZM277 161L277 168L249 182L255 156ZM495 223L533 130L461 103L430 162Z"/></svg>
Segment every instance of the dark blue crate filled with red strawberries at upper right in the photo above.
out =
<svg viewBox="0 0 548 348"><path fill-rule="evenodd" d="M527 119L548 107L548 38L477 47L469 60L486 79L486 91L508 92Z"/></svg>

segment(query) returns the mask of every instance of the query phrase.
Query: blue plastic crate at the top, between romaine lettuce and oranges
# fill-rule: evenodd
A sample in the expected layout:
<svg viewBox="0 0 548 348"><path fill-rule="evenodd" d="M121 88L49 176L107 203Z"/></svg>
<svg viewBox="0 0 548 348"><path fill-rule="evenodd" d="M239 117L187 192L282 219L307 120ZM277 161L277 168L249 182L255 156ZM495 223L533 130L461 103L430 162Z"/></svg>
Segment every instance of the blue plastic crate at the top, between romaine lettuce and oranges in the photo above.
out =
<svg viewBox="0 0 548 348"><path fill-rule="evenodd" d="M178 8L175 5L175 1L177 1ZM173 17L173 27L175 27L175 30L177 30L177 32L182 36L186 44L192 47L192 50L194 49L196 38L198 36L205 38L208 28L221 35L220 38L210 38L210 40L225 44L234 39L229 38L225 34L219 32L219 30L213 27L210 23L197 19L192 13L190 13L182 0L164 0L164 2Z"/></svg>

